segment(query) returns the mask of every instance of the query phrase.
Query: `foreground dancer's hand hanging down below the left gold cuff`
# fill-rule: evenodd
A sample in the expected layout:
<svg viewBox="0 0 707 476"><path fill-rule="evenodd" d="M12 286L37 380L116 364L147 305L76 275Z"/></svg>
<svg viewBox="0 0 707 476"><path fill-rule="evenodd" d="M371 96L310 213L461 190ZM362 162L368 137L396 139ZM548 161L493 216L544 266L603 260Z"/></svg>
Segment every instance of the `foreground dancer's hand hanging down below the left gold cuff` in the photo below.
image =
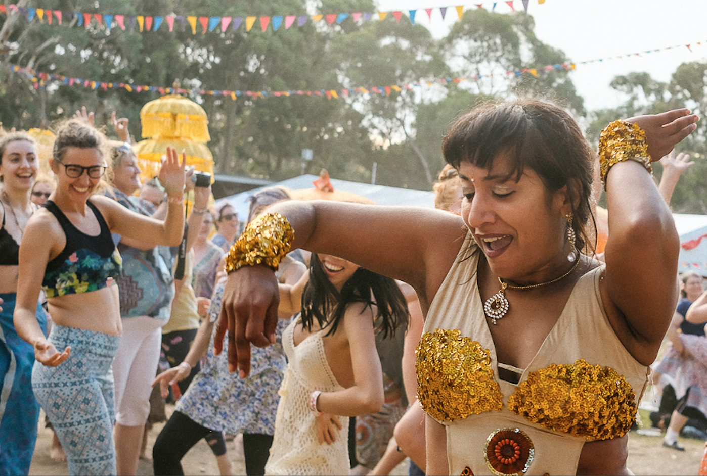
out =
<svg viewBox="0 0 707 476"><path fill-rule="evenodd" d="M250 374L250 344L266 347L275 342L280 291L275 273L264 265L243 266L228 275L221 314L216 324L214 351L223 351L228 331L228 371Z"/></svg>

